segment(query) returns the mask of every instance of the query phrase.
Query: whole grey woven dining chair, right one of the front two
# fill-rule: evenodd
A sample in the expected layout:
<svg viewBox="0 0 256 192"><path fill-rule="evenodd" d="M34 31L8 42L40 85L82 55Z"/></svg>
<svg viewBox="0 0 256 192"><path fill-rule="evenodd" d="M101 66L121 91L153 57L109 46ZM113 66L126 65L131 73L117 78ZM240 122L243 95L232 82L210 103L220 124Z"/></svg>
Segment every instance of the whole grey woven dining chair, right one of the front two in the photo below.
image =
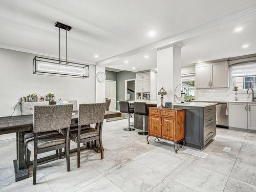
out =
<svg viewBox="0 0 256 192"><path fill-rule="evenodd" d="M70 132L70 139L77 143L77 167L80 167L80 143L99 140L101 159L103 159L102 123L104 120L106 103L79 104L78 130ZM81 126L94 124L95 128L82 129Z"/></svg>

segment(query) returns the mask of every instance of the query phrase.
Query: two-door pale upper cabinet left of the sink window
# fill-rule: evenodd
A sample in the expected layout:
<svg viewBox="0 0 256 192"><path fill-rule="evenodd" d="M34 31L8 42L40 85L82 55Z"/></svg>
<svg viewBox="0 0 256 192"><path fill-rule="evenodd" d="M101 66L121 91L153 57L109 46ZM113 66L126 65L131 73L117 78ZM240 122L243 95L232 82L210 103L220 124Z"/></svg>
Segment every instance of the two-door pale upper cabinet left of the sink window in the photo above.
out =
<svg viewBox="0 0 256 192"><path fill-rule="evenodd" d="M227 61L207 63L196 66L196 89L228 88L228 79Z"/></svg>

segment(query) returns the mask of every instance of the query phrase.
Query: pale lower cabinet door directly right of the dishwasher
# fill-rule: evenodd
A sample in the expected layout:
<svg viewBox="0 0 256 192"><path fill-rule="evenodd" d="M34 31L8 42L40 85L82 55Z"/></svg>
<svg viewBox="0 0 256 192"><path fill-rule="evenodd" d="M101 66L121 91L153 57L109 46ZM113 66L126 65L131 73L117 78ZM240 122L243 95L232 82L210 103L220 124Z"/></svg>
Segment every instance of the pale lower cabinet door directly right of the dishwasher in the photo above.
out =
<svg viewBox="0 0 256 192"><path fill-rule="evenodd" d="M228 126L247 129L247 103L228 104Z"/></svg>

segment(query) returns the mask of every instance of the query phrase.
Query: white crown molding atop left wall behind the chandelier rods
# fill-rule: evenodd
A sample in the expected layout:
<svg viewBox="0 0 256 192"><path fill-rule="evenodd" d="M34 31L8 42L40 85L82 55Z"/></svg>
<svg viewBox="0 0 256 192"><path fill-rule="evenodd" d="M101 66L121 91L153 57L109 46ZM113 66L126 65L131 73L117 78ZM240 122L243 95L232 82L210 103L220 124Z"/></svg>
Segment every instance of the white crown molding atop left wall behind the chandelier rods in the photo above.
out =
<svg viewBox="0 0 256 192"><path fill-rule="evenodd" d="M0 44L0 48L9 49L9 50L13 50L13 51L24 52L24 53L31 53L31 54L40 55L40 56L59 58L58 55L45 53L45 52L40 52L40 51L34 51L34 50L30 50L30 49L25 49L25 48L19 48L19 47L15 47L15 46L8 46L8 45ZM73 61L73 62L81 62L81 63L91 64L91 65L96 65L96 62L93 62L93 61L74 59L74 58L69 58L69 60Z"/></svg>

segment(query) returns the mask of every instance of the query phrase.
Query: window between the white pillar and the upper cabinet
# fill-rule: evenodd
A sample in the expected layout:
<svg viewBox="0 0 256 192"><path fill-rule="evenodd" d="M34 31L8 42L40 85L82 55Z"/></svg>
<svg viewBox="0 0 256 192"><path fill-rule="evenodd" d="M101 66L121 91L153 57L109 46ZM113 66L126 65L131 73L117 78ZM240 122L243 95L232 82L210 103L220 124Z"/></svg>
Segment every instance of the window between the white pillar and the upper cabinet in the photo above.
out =
<svg viewBox="0 0 256 192"><path fill-rule="evenodd" d="M181 94L184 94L185 99L188 101L195 99L195 75L182 76Z"/></svg>

